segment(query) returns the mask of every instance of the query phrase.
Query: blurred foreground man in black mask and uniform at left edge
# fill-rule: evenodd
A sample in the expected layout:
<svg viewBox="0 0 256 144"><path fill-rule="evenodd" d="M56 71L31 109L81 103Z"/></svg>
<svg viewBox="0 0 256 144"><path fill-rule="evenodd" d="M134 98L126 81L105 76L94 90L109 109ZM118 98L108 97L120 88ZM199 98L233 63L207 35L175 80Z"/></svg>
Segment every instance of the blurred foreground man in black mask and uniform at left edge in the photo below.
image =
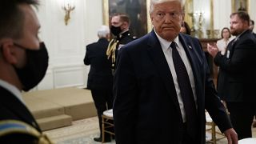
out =
<svg viewBox="0 0 256 144"><path fill-rule="evenodd" d="M21 94L38 85L48 67L48 53L39 41L40 24L32 5L37 6L38 1L0 1L0 120L12 126L29 126L40 135L42 131ZM30 136L15 136L7 138L8 143L34 143ZM2 142L5 139L1 137Z"/></svg>

